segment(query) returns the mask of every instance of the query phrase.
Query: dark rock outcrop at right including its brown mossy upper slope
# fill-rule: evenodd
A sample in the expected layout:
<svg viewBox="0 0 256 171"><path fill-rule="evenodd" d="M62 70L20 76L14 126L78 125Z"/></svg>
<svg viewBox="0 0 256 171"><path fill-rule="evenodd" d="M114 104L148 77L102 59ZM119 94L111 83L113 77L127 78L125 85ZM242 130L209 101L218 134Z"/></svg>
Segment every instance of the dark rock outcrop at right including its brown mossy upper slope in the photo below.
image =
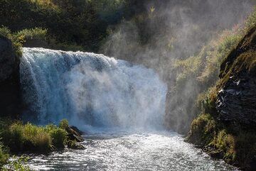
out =
<svg viewBox="0 0 256 171"><path fill-rule="evenodd" d="M256 28L245 35L237 48L235 48L220 69L220 79L228 79L218 93L216 109L220 121L235 123L245 128L256 128L256 72L249 71L244 63L247 58L256 58ZM242 58L237 62L238 58ZM250 62L250 60L249 60Z"/></svg>

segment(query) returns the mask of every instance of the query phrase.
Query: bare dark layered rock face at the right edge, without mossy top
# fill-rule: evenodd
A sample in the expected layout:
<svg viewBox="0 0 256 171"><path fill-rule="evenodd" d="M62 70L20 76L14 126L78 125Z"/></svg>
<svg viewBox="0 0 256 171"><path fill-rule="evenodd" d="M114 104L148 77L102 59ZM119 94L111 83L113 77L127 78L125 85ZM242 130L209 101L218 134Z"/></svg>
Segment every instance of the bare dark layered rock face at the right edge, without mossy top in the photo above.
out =
<svg viewBox="0 0 256 171"><path fill-rule="evenodd" d="M230 77L218 94L216 109L221 121L256 126L256 77L245 72Z"/></svg>

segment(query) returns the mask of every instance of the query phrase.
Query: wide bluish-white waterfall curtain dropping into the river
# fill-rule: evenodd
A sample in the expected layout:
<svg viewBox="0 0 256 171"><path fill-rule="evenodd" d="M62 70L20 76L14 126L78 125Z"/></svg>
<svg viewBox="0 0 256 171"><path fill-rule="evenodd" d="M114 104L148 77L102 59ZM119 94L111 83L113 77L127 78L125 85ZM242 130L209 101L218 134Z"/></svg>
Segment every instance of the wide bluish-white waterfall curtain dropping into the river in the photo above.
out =
<svg viewBox="0 0 256 171"><path fill-rule="evenodd" d="M154 70L94 53L23 48L25 120L154 128L164 123L166 84ZM29 119L28 119L29 118Z"/></svg>

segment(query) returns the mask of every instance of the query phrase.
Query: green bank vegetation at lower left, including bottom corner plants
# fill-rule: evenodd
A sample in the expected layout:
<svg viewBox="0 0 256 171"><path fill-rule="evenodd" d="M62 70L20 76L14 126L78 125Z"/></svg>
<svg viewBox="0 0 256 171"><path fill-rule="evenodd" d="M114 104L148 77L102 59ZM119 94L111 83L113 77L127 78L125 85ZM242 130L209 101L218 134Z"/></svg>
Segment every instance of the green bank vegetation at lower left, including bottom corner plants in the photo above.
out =
<svg viewBox="0 0 256 171"><path fill-rule="evenodd" d="M23 124L21 121L1 118L0 167L8 164L12 168L28 169L22 165L24 158L8 161L9 151L12 153L49 153L53 150L63 149L65 145L69 147L70 143L75 146L75 141L68 137L65 128L68 128L66 119L60 121L60 126L58 127L53 124L35 126L31 123Z"/></svg>

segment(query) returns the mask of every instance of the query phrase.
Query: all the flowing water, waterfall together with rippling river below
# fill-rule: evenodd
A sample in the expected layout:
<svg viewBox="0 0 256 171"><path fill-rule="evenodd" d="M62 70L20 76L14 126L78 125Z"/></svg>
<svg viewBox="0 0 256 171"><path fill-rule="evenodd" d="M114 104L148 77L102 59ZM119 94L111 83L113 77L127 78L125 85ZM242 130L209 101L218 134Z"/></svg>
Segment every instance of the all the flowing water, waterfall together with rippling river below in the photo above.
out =
<svg viewBox="0 0 256 171"><path fill-rule="evenodd" d="M33 170L235 170L180 135L159 131L166 84L143 66L93 53L23 48L21 86L25 116L39 124L68 118L88 131L85 150L33 155Z"/></svg>

